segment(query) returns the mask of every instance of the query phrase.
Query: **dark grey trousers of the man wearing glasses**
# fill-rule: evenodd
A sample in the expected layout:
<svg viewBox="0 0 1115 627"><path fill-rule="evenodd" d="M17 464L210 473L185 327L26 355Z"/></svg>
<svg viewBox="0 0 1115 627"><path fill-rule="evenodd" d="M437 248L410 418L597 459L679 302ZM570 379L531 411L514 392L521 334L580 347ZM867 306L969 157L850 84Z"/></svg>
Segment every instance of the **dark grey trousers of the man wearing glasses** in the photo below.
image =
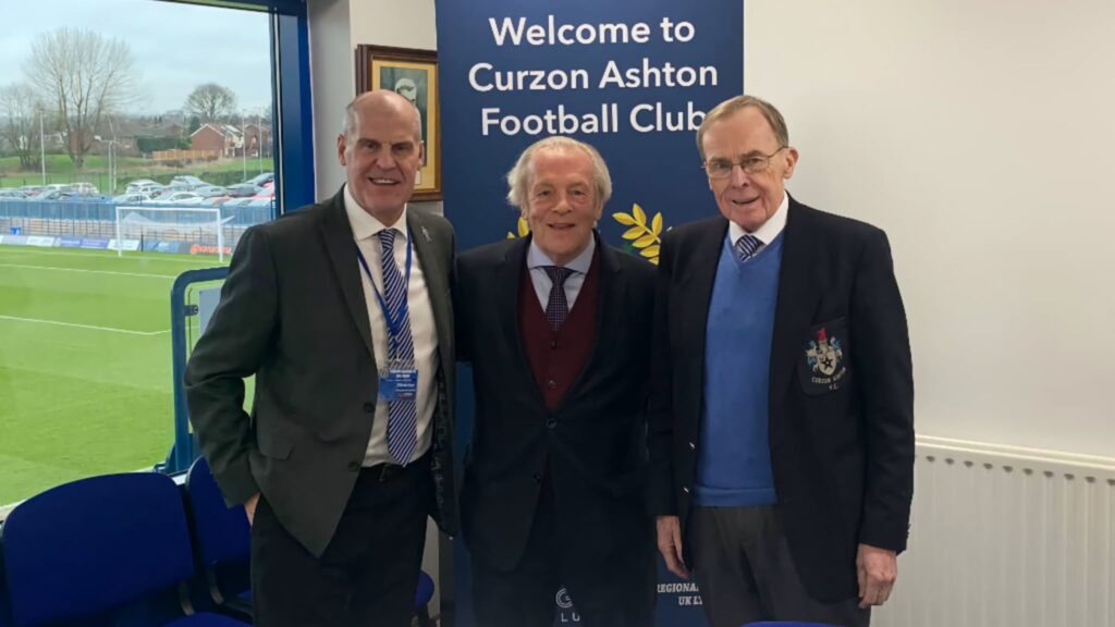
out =
<svg viewBox="0 0 1115 627"><path fill-rule="evenodd" d="M805 590L778 508L694 508L687 533L694 577L711 627L801 620L867 627L859 599L815 600Z"/></svg>

